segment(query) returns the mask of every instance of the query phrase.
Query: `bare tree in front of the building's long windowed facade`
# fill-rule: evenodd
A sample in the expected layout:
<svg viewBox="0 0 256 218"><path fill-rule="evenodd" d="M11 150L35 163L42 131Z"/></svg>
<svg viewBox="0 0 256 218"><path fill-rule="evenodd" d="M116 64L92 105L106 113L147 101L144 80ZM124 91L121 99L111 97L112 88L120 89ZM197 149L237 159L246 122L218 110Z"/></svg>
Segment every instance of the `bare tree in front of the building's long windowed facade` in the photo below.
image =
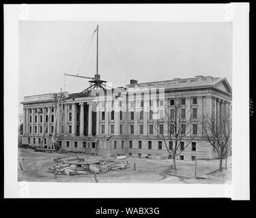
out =
<svg viewBox="0 0 256 218"><path fill-rule="evenodd" d="M165 108L165 114L158 114L162 117L157 117L158 119L155 119L154 122L158 136L165 143L165 147L173 159L175 174L177 173L176 157L188 147L197 135L197 129L194 129L193 132L191 128L191 119L186 119L188 114L186 114L186 108L182 107L184 100L185 98L182 96L175 96L171 99L171 106ZM169 142L172 142L172 146L169 146Z"/></svg>

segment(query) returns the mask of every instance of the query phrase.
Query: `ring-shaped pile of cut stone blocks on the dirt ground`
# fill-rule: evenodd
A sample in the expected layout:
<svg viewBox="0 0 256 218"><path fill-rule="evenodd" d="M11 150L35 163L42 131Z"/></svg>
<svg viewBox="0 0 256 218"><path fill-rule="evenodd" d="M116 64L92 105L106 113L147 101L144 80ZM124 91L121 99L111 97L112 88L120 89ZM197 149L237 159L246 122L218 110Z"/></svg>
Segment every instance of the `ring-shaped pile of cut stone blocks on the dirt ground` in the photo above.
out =
<svg viewBox="0 0 256 218"><path fill-rule="evenodd" d="M49 172L57 175L85 175L105 173L109 170L125 170L130 168L126 156L119 156L109 159L88 159L83 157L59 157L54 159L57 165L49 168Z"/></svg>

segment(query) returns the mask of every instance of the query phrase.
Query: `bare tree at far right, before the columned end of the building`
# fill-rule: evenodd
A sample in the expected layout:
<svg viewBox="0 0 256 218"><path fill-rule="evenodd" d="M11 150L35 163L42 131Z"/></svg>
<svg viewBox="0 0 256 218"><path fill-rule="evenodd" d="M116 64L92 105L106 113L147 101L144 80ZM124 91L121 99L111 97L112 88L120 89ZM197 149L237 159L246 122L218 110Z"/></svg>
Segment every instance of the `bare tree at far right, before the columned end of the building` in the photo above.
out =
<svg viewBox="0 0 256 218"><path fill-rule="evenodd" d="M214 147L218 158L220 159L219 170L223 170L223 159L226 159L225 168L227 168L227 157L231 151L231 115L223 112L220 116L204 116L202 119L203 138Z"/></svg>

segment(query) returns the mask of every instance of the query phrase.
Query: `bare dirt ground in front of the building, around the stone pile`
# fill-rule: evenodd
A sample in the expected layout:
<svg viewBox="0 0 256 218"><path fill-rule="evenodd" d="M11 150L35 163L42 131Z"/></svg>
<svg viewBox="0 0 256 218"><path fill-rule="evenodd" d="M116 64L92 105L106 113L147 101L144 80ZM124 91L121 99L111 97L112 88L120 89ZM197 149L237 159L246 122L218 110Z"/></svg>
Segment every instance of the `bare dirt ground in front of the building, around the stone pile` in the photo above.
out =
<svg viewBox="0 0 256 218"><path fill-rule="evenodd" d="M55 166L53 159L57 157L84 157L85 159L102 159L99 156L78 153L41 153L33 149L18 149L18 181L29 182L80 182L95 183L94 174L87 175L58 175L55 178L48 169ZM195 161L177 161L177 176L173 176L170 159L143 159L128 157L130 168L96 174L99 183L216 183L225 184L230 181L217 179L195 178ZM134 163L136 170L134 170ZM197 161L197 176L218 169L218 159ZM186 176L184 176L186 175Z"/></svg>

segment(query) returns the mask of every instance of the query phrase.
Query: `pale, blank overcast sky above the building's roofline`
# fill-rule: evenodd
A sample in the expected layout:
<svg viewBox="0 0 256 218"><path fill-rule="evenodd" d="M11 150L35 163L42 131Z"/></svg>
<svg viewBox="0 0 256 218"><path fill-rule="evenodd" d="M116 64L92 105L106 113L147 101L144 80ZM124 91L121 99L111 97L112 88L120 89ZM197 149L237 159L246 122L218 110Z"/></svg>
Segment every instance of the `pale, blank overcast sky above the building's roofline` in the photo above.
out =
<svg viewBox="0 0 256 218"><path fill-rule="evenodd" d="M99 25L99 74L113 87L139 82L226 77L232 84L231 22L20 21L19 101L26 95L88 87L94 77ZM83 61L84 59L84 61ZM83 63L83 64L82 64ZM19 104L22 113L22 105Z"/></svg>

